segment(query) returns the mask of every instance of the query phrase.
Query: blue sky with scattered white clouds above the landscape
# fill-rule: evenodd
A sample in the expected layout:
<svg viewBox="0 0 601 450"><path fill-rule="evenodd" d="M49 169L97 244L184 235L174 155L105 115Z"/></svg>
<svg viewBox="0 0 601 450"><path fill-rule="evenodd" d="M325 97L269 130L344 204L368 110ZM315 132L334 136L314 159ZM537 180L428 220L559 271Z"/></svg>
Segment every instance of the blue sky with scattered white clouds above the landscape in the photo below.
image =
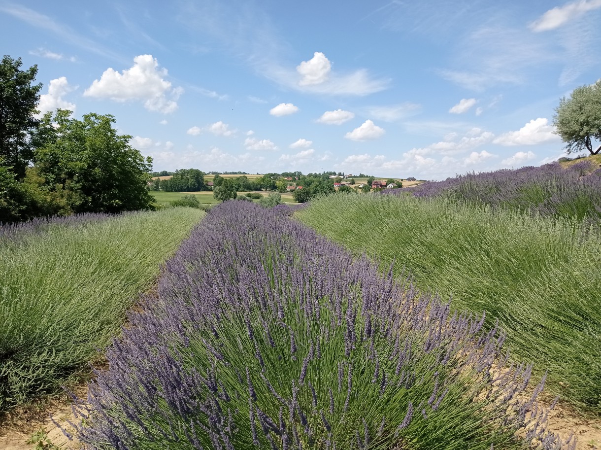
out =
<svg viewBox="0 0 601 450"><path fill-rule="evenodd" d="M445 179L562 153L601 0L10 2L42 111L112 114L154 170Z"/></svg>

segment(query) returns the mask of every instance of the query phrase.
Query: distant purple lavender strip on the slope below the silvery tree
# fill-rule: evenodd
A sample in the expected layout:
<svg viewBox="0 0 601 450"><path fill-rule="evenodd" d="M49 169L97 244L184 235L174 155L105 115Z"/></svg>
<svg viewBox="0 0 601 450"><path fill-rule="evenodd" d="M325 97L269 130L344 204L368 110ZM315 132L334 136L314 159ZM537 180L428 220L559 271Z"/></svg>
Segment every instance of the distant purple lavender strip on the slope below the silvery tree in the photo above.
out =
<svg viewBox="0 0 601 450"><path fill-rule="evenodd" d="M601 218L601 170L590 161L568 168L558 163L517 170L468 173L441 182L429 182L403 192L417 197L446 197L480 205L519 209L542 215ZM384 191L398 194L396 190Z"/></svg>

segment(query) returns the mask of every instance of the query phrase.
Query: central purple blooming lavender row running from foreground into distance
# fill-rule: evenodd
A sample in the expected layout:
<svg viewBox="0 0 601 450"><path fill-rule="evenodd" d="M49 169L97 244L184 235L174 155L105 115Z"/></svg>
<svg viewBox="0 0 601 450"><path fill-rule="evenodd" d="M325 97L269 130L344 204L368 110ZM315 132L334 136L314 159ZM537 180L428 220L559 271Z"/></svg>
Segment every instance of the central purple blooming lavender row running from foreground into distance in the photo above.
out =
<svg viewBox="0 0 601 450"><path fill-rule="evenodd" d="M274 209L275 210L275 209ZM79 402L95 449L561 448L504 334L278 211L226 202ZM494 363L494 366L493 366Z"/></svg>

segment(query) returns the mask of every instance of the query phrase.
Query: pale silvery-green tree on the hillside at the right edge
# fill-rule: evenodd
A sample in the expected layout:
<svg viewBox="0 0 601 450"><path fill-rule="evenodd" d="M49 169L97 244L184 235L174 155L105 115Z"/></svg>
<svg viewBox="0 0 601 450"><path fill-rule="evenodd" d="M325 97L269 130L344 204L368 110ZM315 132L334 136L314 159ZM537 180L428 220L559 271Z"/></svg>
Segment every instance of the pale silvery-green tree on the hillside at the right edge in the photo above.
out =
<svg viewBox="0 0 601 450"><path fill-rule="evenodd" d="M568 155L584 149L591 155L597 155L601 145L593 150L593 143L601 141L601 79L594 84L577 87L567 99L563 97L555 108L553 125L566 143Z"/></svg>

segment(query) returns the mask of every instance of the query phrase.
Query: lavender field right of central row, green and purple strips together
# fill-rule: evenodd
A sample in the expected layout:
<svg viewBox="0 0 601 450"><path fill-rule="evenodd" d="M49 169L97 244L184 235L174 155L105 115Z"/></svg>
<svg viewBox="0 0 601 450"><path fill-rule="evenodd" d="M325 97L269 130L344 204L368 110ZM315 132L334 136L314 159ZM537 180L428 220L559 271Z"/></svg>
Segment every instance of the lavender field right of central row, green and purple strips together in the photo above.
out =
<svg viewBox="0 0 601 450"><path fill-rule="evenodd" d="M512 353L548 371L550 392L599 415L601 177L586 164L323 197L296 217L453 308L486 311L485 327L498 320Z"/></svg>

